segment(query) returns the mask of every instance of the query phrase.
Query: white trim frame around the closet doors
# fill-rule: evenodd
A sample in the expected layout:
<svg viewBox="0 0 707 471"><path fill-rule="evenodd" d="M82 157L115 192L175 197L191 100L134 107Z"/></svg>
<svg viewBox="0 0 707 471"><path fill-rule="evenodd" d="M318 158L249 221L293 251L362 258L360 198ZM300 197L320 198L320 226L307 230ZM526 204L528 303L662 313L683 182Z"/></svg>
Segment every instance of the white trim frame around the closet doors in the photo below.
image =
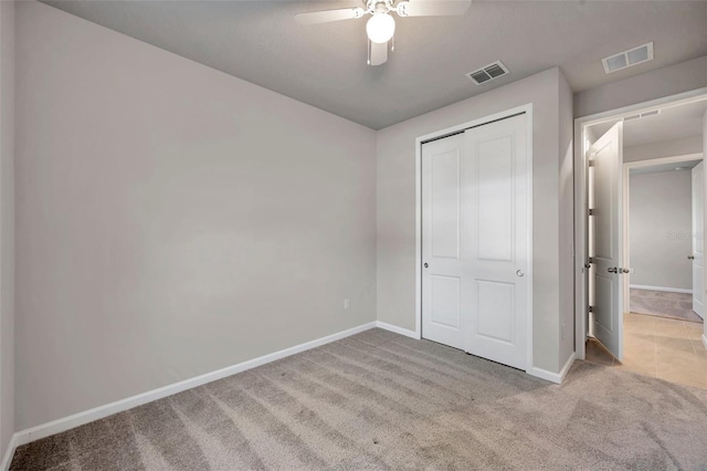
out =
<svg viewBox="0 0 707 471"><path fill-rule="evenodd" d="M528 318L526 326L527 365L526 373L532 374L532 103L506 109L456 126L435 130L415 138L415 332L418 339L422 338L422 145L430 140L441 139L454 134L463 133L471 127L483 126L495 121L505 119L519 114L526 115L527 153L528 153Z"/></svg>

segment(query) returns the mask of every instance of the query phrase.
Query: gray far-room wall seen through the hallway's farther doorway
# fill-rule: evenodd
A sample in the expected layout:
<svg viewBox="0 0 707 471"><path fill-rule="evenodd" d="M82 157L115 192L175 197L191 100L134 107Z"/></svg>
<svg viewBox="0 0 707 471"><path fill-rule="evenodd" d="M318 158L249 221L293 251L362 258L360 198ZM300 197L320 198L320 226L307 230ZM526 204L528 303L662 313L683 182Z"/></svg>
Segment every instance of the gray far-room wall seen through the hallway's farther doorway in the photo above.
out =
<svg viewBox="0 0 707 471"><path fill-rule="evenodd" d="M632 285L693 289L692 172L630 177Z"/></svg>

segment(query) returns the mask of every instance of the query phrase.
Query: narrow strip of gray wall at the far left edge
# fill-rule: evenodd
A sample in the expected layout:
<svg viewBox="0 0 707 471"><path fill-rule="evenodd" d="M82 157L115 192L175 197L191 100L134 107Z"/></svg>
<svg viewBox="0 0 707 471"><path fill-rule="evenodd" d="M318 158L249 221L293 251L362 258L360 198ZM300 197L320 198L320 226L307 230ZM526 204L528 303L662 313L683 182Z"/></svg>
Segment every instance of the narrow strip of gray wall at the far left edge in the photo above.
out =
<svg viewBox="0 0 707 471"><path fill-rule="evenodd" d="M0 456L14 432L14 2L0 1Z"/></svg>

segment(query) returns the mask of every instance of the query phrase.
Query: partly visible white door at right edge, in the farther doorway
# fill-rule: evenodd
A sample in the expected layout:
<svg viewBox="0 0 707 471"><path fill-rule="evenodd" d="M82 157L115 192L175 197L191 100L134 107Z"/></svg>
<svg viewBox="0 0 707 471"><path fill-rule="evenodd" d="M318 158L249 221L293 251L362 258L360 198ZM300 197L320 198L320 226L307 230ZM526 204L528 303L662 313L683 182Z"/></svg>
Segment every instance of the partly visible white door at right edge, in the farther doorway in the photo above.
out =
<svg viewBox="0 0 707 471"><path fill-rule="evenodd" d="M701 163L693 168L693 311L705 318L705 181Z"/></svg>

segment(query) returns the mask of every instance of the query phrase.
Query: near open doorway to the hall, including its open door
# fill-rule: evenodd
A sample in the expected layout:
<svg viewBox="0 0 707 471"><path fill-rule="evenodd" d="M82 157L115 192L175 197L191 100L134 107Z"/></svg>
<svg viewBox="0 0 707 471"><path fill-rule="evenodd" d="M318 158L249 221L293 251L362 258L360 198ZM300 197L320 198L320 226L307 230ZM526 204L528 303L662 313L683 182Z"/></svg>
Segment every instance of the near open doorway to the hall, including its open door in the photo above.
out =
<svg viewBox="0 0 707 471"><path fill-rule="evenodd" d="M577 356L704 388L706 92L576 127Z"/></svg>

